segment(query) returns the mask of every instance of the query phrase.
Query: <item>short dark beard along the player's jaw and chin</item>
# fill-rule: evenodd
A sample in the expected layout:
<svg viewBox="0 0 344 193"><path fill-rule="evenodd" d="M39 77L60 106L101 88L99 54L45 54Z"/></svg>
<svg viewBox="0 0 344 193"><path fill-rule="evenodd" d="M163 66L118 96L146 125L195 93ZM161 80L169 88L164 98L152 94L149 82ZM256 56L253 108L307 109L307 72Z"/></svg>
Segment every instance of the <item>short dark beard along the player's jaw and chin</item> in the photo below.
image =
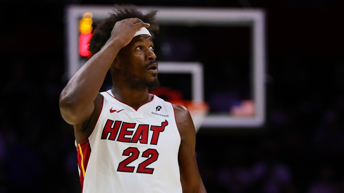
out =
<svg viewBox="0 0 344 193"><path fill-rule="evenodd" d="M148 90L153 90L160 86L158 78L155 78L153 81L148 81L143 77L139 78L136 75L129 73L124 76L125 79L123 80L123 83L127 84L132 89L141 90L148 88Z"/></svg>

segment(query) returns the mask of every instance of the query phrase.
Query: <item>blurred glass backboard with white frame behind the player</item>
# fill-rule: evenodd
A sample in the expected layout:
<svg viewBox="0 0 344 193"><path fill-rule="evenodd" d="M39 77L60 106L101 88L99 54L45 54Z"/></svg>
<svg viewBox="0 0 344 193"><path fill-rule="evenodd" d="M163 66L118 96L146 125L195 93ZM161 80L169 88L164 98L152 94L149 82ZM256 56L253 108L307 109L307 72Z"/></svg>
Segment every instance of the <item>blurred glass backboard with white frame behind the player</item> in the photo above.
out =
<svg viewBox="0 0 344 193"><path fill-rule="evenodd" d="M106 17L108 13L112 12L112 6L94 6L94 5L70 5L66 9L66 78L69 79L86 61L78 54L78 36L79 36L79 20L86 12L93 13L93 20L99 22ZM159 68L163 73L189 73L192 84L190 89L190 98L192 100L205 100L211 105L211 111L202 123L204 128L232 128L232 127L246 127L256 128L260 127L265 122L265 12L261 9L229 9L229 8L189 8L189 7L139 7L143 12L147 12L151 9L157 9L157 22L160 25L160 34L158 39L170 38L170 42L166 44L160 44L160 52L162 53L162 59L159 60ZM233 30L232 30L233 29ZM168 34L173 31L174 34ZM220 33L220 31L226 32L230 41L228 40L226 33ZM189 53L189 55L197 55L197 57L186 57L185 60L182 57L183 53L179 57L171 58L164 53L168 53L169 49L173 48L171 42L175 42L172 38L173 35L187 34L190 35L184 37L184 42L181 45L186 47L194 45L193 47L197 52L203 52L205 54L200 55L197 53ZM180 34L178 34L180 33ZM213 49L212 45L207 43L206 47L201 49L200 42L202 39L195 41L194 36L197 34L206 34L209 37L221 36L224 42L216 42L219 40L214 39L214 47L218 48L218 45L235 45L238 50L243 45L243 56L238 58L238 54L229 54L223 57L224 54L216 55L219 50L216 50L215 55L217 58L223 57L221 60L216 61L216 68L219 68L219 76L217 72L213 71L212 67L212 55L206 56L206 49ZM239 35L238 35L239 34ZM240 39L241 35L245 34L244 39ZM203 35L204 36L204 35ZM239 37L239 38L238 38ZM232 39L231 39L232 38ZM190 39L191 43L187 44L187 39ZM239 43L235 41L239 39ZM177 39L178 40L178 39ZM221 40L220 40L221 41ZM185 43L186 44L183 44ZM178 42L177 42L178 43ZM197 46L195 46L197 45ZM184 46L184 47L185 47ZM190 46L189 46L190 47ZM232 46L233 47L233 46ZM226 46L222 47L226 50ZM235 53L235 49L231 48ZM247 50L247 51L246 51ZM172 50L173 51L173 50ZM226 51L224 51L226 53ZM159 58L159 57L158 57ZM199 58L199 60L198 60ZM232 60L227 64L228 60ZM173 60L173 61L171 61ZM166 64L166 67L164 66ZM194 64L199 70L190 70L186 67L188 64ZM175 65L174 65L175 64ZM178 65L185 65L184 68L177 67ZM174 65L174 66L173 66ZM235 68L227 68L227 66L234 66ZM167 69L167 70L163 70ZM176 69L178 69L176 72ZM184 69L184 70L182 70ZM214 68L215 69L215 68ZM229 70L228 70L229 69ZM243 70L244 69L244 70ZM215 69L216 70L216 69ZM226 71L235 71L226 72ZM241 70L241 71L240 71ZM226 72L226 73L225 73ZM231 74L232 73L232 74ZM160 76L160 75L159 75ZM239 76L243 78L232 79L232 77ZM198 77L195 80L195 77ZM199 78L201 77L201 78ZM243 80L247 94L243 94L243 97L237 97L231 93L233 90L233 84L238 82L237 80ZM247 79L247 80L246 80ZM209 82L210 81L210 82ZM227 84L228 82L232 82ZM216 92L214 89L216 86L221 88L221 92ZM239 87L241 84L238 84ZM216 87L216 88L217 88ZM238 87L238 86L236 86ZM227 89L227 90L226 90ZM240 95L240 93L239 93ZM233 96L235 96L233 99ZM227 98L228 100L226 100ZM215 101L215 102L214 102ZM218 102L218 101L221 101ZM230 102L228 102L230 101ZM212 105L214 104L214 105ZM223 104L223 105L222 105ZM216 106L217 105L217 106ZM228 106L226 106L228 105ZM221 110L221 107L228 107L228 111Z"/></svg>

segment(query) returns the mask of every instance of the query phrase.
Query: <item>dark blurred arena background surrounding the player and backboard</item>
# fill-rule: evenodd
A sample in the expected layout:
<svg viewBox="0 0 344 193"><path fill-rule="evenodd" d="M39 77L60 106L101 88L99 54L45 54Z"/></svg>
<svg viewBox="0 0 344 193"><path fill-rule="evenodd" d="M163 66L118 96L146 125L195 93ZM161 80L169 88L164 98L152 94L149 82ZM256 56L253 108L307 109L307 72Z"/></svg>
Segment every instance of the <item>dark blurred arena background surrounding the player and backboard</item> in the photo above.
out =
<svg viewBox="0 0 344 193"><path fill-rule="evenodd" d="M0 1L1 193L81 192L73 128L58 109L66 84L64 8L113 3ZM266 10L266 124L213 132L201 128L196 152L209 193L344 192L342 1L130 3Z"/></svg>

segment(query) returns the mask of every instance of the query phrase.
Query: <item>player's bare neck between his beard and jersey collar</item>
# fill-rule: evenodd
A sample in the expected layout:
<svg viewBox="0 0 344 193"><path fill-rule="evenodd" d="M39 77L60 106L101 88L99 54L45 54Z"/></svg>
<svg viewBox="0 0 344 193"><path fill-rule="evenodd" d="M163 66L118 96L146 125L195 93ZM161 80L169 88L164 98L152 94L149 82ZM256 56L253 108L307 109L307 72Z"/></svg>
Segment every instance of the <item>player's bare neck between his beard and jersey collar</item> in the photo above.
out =
<svg viewBox="0 0 344 193"><path fill-rule="evenodd" d="M112 85L111 92L117 100L128 104L136 110L144 103L152 100L152 95L148 93L148 88L136 90Z"/></svg>

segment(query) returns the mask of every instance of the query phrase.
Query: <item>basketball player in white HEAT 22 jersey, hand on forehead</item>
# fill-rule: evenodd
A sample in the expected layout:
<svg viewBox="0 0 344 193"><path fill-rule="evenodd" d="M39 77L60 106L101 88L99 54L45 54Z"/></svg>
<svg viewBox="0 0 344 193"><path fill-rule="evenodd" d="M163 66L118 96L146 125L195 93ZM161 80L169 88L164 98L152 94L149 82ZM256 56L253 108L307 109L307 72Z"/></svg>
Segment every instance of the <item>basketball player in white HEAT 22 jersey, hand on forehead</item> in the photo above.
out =
<svg viewBox="0 0 344 193"><path fill-rule="evenodd" d="M117 9L97 26L92 57L60 95L61 115L74 125L82 192L206 192L189 111L148 93L159 86L156 11ZM108 70L113 86L99 93Z"/></svg>

